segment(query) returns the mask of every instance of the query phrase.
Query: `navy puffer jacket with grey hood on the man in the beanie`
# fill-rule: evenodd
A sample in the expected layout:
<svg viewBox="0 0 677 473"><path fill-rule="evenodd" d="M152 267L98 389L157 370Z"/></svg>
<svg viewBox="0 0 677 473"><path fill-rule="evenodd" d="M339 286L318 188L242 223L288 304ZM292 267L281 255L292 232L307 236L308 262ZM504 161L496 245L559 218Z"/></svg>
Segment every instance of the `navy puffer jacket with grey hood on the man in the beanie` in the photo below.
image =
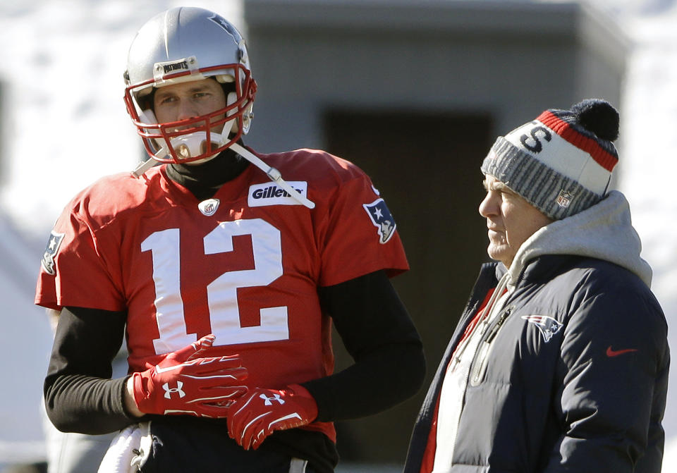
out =
<svg viewBox="0 0 677 473"><path fill-rule="evenodd" d="M603 210L601 229L584 211L542 228L520 248L508 299L484 335L493 336L491 348L472 362L472 371L477 363L486 370L468 382L449 471L661 471L666 321L647 285L650 270L633 242L627 202L616 192L602 204L610 208L593 209ZM579 224L587 232L581 241L613 240L583 245L595 257L571 250L568 237ZM616 233L621 227L624 236ZM482 266L415 424L405 473L421 471L451 353L505 272L502 264Z"/></svg>

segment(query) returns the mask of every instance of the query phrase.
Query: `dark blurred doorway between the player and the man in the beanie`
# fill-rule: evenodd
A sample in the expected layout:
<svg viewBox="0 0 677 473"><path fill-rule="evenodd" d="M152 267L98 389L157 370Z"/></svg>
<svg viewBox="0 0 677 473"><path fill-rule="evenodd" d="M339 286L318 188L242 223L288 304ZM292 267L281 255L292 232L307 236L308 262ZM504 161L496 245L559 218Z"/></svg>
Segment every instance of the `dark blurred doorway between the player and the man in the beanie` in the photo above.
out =
<svg viewBox="0 0 677 473"><path fill-rule="evenodd" d="M333 110L324 116L327 151L367 172L396 220L411 269L393 283L421 334L428 364L415 398L337 424L344 461L404 461L418 409L487 259L477 207L491 130L491 117L481 113ZM340 342L334 345L340 370L351 360Z"/></svg>

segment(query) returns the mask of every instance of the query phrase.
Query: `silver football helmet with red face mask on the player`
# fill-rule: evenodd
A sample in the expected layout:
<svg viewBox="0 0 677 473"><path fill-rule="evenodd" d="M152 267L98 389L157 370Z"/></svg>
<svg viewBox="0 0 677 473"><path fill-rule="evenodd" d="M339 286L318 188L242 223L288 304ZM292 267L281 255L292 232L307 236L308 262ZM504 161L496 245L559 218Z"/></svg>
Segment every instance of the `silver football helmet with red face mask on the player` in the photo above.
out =
<svg viewBox="0 0 677 473"><path fill-rule="evenodd" d="M214 78L224 87L224 109L157 123L152 110L154 90L205 78ZM125 82L127 111L156 161L205 161L249 131L256 82L245 41L236 27L211 11L178 7L151 18L130 46Z"/></svg>

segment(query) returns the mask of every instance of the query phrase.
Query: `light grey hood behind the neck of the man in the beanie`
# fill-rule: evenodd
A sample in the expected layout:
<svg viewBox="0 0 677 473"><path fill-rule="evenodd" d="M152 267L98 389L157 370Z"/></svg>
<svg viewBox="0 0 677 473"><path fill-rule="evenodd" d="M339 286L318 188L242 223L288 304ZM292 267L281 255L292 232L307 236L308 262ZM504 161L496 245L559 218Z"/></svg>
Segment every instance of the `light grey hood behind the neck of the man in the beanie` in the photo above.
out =
<svg viewBox="0 0 677 473"><path fill-rule="evenodd" d="M651 266L640 257L642 242L630 221L626 197L612 190L599 203L573 216L539 228L520 247L508 269L514 285L530 260L544 254L602 259L639 276L651 287Z"/></svg>

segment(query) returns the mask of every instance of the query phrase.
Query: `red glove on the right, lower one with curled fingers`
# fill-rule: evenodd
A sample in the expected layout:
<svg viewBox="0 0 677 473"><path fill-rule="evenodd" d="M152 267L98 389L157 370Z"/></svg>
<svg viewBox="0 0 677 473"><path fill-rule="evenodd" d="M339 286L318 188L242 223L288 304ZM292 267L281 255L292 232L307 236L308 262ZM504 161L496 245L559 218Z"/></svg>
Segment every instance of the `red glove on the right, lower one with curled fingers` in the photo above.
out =
<svg viewBox="0 0 677 473"><path fill-rule="evenodd" d="M255 388L228 407L228 435L245 450L256 450L274 431L310 424L315 417L317 403L303 386Z"/></svg>

